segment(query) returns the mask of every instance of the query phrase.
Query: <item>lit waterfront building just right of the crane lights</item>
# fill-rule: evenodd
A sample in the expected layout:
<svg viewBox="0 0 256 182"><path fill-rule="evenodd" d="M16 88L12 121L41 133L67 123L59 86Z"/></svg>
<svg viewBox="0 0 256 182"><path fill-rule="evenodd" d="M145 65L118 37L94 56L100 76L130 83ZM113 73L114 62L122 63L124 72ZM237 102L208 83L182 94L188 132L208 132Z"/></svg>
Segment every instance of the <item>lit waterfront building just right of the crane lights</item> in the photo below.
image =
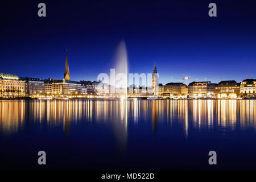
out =
<svg viewBox="0 0 256 182"><path fill-rule="evenodd" d="M192 98L214 98L215 87L210 81L193 81L188 84L188 94Z"/></svg>

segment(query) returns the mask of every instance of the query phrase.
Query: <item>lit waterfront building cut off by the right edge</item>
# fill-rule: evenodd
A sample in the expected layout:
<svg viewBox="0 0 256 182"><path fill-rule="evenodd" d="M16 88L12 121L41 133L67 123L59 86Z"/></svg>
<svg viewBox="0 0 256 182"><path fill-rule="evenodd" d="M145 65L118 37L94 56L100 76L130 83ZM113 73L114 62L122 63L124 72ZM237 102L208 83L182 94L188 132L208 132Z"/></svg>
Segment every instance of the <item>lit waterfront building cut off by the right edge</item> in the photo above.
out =
<svg viewBox="0 0 256 182"><path fill-rule="evenodd" d="M250 98L255 97L256 92L256 80L245 79L241 82L240 93L241 97Z"/></svg>

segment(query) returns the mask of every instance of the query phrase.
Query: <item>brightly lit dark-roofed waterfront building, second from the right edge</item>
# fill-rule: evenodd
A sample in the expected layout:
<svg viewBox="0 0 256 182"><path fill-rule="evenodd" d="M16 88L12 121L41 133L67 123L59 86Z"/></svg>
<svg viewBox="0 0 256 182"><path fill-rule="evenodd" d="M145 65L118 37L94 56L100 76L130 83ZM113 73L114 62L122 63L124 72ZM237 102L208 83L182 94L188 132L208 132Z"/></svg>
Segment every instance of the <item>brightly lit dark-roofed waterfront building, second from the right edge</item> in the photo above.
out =
<svg viewBox="0 0 256 182"><path fill-rule="evenodd" d="M235 80L221 81L215 88L215 98L240 97L240 83Z"/></svg>

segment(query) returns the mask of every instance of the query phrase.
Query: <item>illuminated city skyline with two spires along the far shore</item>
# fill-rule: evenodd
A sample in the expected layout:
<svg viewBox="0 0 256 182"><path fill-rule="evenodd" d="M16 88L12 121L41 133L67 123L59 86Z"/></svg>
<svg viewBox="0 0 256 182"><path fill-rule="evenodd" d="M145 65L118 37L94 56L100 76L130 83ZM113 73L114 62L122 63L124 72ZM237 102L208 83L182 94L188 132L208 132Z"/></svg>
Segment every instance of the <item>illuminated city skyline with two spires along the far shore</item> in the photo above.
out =
<svg viewBox="0 0 256 182"><path fill-rule="evenodd" d="M118 52L119 65L126 64L126 47L122 43ZM120 71L120 70L119 70ZM123 70L127 71L127 70ZM121 75L120 75L121 74ZM41 79L19 77L12 73L0 73L0 96L2 98L147 98L151 99L255 99L256 79L192 81L188 85L183 75L182 82L159 83L159 73L154 64L153 74L137 73L129 76L123 72L111 70L110 77L106 73L98 76L99 81L72 81L69 73L68 52L65 57L64 78ZM152 76L152 78L151 78ZM103 81L101 82L101 79ZM123 80L124 79L124 80ZM120 85L121 83L121 85ZM129 83L129 85L127 85ZM146 85L143 85L146 84Z"/></svg>

